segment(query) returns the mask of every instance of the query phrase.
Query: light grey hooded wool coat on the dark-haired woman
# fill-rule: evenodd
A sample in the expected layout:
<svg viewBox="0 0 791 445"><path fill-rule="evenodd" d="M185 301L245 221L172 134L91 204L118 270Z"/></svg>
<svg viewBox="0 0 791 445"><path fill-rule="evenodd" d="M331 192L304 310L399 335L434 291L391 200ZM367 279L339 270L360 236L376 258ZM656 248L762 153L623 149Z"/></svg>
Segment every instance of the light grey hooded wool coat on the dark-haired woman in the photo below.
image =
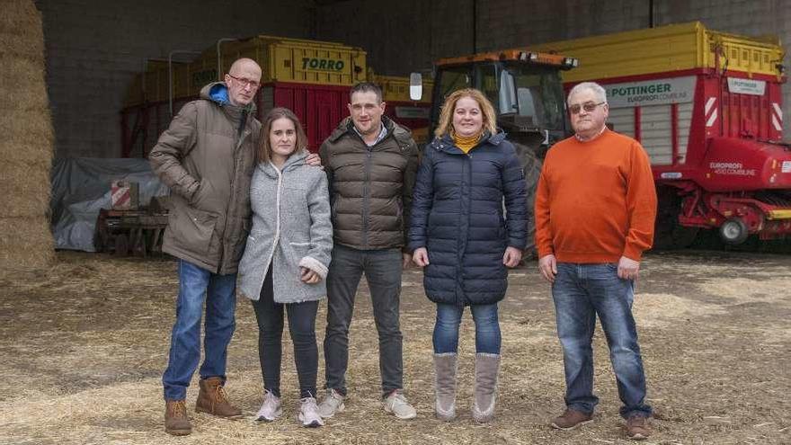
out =
<svg viewBox="0 0 791 445"><path fill-rule="evenodd" d="M239 263L238 288L245 298L260 298L270 264L276 303L327 295L324 279L333 250L327 176L306 165L306 157L307 152L291 155L282 170L271 163L255 168L250 186L253 228ZM316 271L322 280L302 282L300 266Z"/></svg>

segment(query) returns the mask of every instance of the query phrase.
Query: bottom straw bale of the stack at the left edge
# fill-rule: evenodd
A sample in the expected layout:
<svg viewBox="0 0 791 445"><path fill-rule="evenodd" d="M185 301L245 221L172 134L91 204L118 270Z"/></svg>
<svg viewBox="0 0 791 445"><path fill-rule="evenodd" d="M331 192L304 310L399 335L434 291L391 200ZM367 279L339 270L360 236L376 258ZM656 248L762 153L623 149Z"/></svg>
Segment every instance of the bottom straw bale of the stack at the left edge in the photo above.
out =
<svg viewBox="0 0 791 445"><path fill-rule="evenodd" d="M46 268L54 259L55 244L47 218L0 218L0 267L4 272Z"/></svg>

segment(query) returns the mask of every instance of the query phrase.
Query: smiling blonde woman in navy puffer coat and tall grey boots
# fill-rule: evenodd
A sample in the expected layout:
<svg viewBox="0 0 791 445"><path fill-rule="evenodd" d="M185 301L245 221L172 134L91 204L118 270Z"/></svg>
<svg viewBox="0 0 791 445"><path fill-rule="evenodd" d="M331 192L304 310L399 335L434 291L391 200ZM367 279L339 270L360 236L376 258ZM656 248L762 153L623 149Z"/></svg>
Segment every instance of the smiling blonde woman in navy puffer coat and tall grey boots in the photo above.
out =
<svg viewBox="0 0 791 445"><path fill-rule="evenodd" d="M497 303L508 287L506 266L520 262L526 245L524 174L495 122L483 93L469 88L450 94L414 186L409 247L414 262L425 267L426 295L437 304L435 409L443 420L456 414L458 325L466 306L475 320L473 417L493 417L501 344Z"/></svg>

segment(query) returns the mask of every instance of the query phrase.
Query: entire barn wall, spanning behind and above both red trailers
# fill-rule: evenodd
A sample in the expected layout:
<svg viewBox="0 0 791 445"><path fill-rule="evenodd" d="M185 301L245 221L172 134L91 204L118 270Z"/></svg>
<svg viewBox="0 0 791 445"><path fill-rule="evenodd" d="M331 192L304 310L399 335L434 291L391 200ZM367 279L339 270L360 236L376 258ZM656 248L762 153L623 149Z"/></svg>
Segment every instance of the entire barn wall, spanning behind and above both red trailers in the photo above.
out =
<svg viewBox="0 0 791 445"><path fill-rule="evenodd" d="M341 41L383 75L430 70L474 50L644 28L648 0L35 0L43 14L58 156L120 156L120 114L146 58L257 33ZM655 0L656 25L701 20L718 31L791 41L791 2ZM166 5L166 7L164 6ZM473 10L475 9L475 20ZM474 31L475 30L475 31ZM791 92L786 88L786 115Z"/></svg>

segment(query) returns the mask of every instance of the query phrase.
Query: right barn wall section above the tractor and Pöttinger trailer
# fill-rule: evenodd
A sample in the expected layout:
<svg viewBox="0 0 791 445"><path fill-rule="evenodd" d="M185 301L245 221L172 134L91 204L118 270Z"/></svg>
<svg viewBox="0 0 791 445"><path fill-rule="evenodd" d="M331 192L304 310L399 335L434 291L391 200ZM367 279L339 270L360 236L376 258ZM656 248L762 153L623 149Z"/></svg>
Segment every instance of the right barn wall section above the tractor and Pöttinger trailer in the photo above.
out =
<svg viewBox="0 0 791 445"><path fill-rule="evenodd" d="M475 21L471 19L473 2L477 12ZM410 71L430 69L431 60L436 58L474 50L647 28L651 15L649 4L648 0L347 1L319 8L316 30L322 38L344 40L368 49L369 66L380 74L404 76ZM775 34L785 45L791 44L791 2L653 2L655 26L694 20L716 31L756 36ZM784 88L784 103L784 114L789 116L791 88Z"/></svg>

